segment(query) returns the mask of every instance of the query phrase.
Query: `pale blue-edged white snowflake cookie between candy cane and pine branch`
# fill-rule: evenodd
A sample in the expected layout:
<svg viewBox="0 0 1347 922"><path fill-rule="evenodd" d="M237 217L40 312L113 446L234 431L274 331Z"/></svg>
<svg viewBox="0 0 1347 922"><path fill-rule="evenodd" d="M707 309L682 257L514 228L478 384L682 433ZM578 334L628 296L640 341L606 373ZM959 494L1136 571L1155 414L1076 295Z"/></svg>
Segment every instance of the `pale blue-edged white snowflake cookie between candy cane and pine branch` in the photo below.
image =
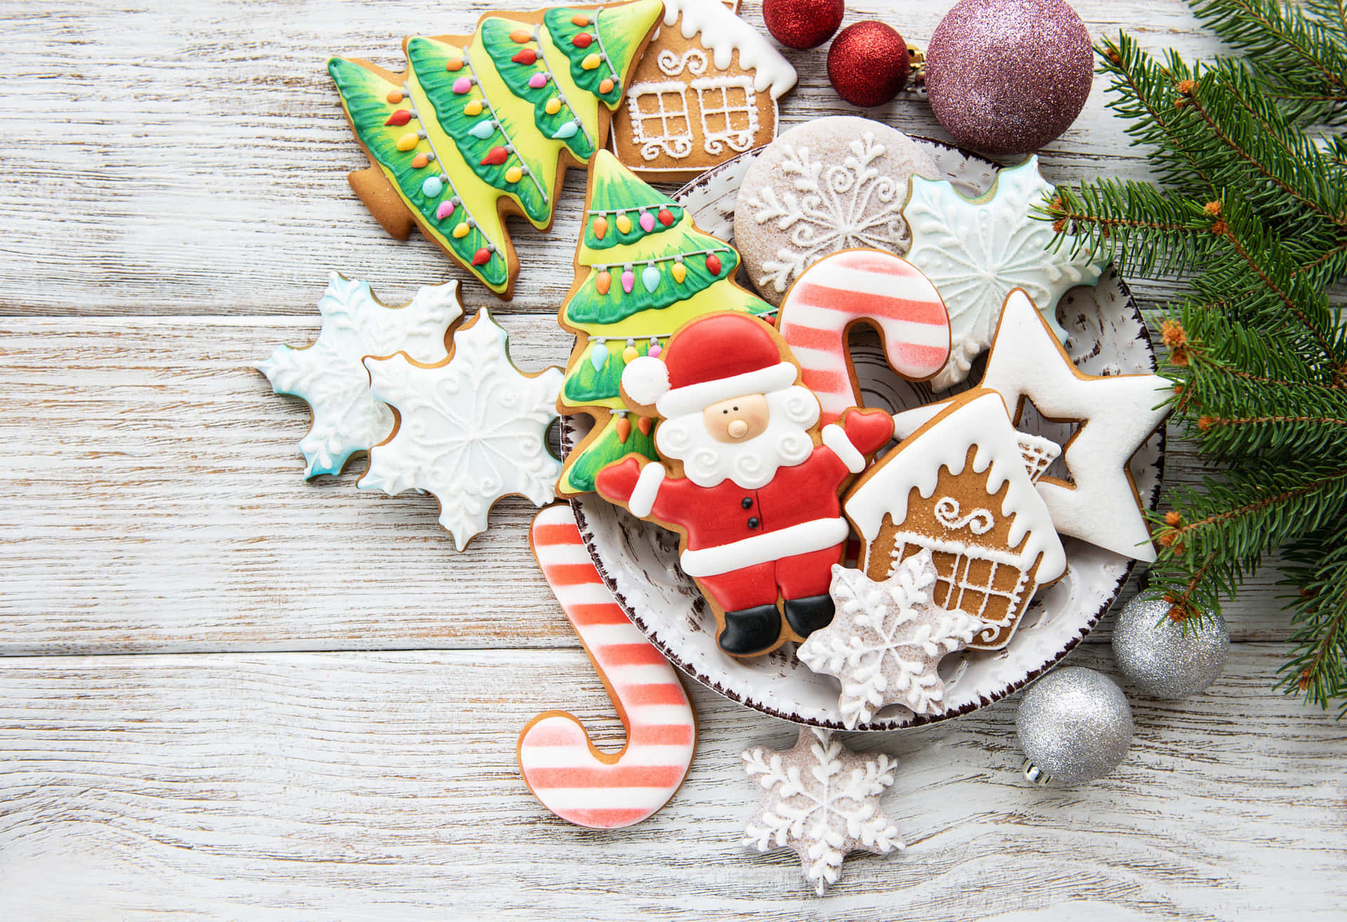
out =
<svg viewBox="0 0 1347 922"><path fill-rule="evenodd" d="M908 259L940 290L950 309L950 361L931 384L944 390L968 376L973 360L991 345L1001 305L1024 288L1057 336L1057 301L1078 284L1095 284L1102 267L1084 255L1049 249L1052 225L1032 210L1053 186L1039 158L1006 167L986 194L964 198L946 182L916 178L902 216L912 228Z"/></svg>

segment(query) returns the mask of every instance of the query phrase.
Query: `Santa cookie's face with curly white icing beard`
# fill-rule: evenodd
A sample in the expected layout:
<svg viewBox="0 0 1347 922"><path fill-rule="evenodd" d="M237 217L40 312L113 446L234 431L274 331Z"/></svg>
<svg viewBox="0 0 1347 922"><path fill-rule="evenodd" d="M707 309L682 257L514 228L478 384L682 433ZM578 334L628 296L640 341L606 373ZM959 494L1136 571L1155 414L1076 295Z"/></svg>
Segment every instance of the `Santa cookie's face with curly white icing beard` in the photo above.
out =
<svg viewBox="0 0 1347 922"><path fill-rule="evenodd" d="M665 419L655 430L655 446L664 457L682 461L684 476L698 487L730 479L745 489L758 489L770 483L777 468L810 457L810 427L818 421L818 398L795 384Z"/></svg>

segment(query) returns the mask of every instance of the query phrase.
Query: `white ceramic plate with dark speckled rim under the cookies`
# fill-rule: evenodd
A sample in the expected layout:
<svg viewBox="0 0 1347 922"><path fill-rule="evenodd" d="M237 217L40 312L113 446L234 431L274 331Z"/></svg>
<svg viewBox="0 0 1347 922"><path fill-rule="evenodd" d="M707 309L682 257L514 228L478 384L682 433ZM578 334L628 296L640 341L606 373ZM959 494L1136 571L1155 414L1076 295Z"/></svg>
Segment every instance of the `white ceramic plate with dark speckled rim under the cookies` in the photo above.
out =
<svg viewBox="0 0 1347 922"><path fill-rule="evenodd" d="M921 142L944 175L964 194L981 194L995 166L935 142ZM722 164L676 194L698 225L722 240L733 239L734 201L749 151ZM1141 311L1126 284L1111 268L1096 287L1074 288L1061 299L1057 317L1070 332L1067 353L1091 375L1144 373L1156 368L1154 352ZM923 384L909 384L885 364L877 337L854 344L853 359L863 400L870 407L907 410L932 400ZM973 377L979 377L974 373ZM563 441L581 437L568 418ZM1021 429L1061 443L1070 426L1026 418ZM1060 465L1060 460L1056 462ZM1131 460L1142 499L1154 508L1164 468L1164 431L1156 433ZM1060 466L1049 468L1063 473ZM715 619L695 584L678 565L678 535L641 522L594 495L574 500L575 519L590 555L641 631L669 660L703 685L766 714L815 727L842 728L841 686L818 675L795 655L795 644L740 660L715 646ZM1020 628L1004 650L967 651L946 656L946 710L917 717L901 705L885 708L862 731L893 731L964 714L1024 686L1067 655L1109 609L1127 580L1133 562L1118 554L1065 538L1067 576L1040 592L1021 616Z"/></svg>

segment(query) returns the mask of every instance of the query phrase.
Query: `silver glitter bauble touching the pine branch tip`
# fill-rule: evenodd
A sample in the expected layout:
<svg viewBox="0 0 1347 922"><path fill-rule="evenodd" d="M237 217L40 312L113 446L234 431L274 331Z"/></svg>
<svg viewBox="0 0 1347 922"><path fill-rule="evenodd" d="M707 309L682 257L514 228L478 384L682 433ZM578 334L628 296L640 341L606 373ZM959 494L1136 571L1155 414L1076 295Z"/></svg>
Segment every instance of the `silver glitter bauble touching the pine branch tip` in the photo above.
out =
<svg viewBox="0 0 1347 922"><path fill-rule="evenodd" d="M1212 615L1203 623L1169 620L1162 600L1127 603L1113 628L1113 658L1142 694L1187 698L1216 681L1230 654L1226 619Z"/></svg>

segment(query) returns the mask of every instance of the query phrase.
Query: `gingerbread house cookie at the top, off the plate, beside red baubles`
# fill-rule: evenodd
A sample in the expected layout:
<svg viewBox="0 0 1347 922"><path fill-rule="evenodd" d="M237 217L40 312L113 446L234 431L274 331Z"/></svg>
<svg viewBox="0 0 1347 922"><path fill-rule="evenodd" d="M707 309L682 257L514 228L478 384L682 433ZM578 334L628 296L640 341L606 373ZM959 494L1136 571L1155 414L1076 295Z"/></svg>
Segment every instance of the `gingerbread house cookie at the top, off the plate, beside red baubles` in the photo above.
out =
<svg viewBox="0 0 1347 922"><path fill-rule="evenodd" d="M692 179L776 137L795 67L721 0L664 0L664 26L613 115L613 152L649 179Z"/></svg>

